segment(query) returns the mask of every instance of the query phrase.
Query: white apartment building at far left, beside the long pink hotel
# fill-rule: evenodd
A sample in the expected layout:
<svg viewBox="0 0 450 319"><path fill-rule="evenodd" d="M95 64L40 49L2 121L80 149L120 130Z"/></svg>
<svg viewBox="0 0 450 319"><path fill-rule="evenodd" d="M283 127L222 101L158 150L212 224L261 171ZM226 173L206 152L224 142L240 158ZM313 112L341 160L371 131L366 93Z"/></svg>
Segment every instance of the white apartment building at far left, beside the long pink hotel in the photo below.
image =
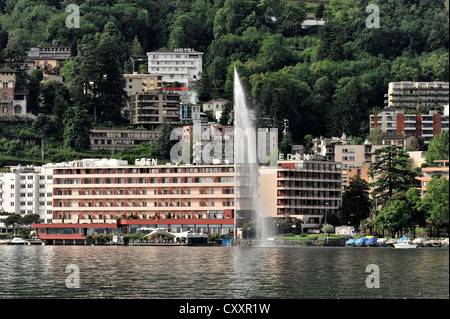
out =
<svg viewBox="0 0 450 319"><path fill-rule="evenodd" d="M53 166L13 166L0 173L0 212L39 214L42 223L53 216ZM0 224L0 228L4 227Z"/></svg>

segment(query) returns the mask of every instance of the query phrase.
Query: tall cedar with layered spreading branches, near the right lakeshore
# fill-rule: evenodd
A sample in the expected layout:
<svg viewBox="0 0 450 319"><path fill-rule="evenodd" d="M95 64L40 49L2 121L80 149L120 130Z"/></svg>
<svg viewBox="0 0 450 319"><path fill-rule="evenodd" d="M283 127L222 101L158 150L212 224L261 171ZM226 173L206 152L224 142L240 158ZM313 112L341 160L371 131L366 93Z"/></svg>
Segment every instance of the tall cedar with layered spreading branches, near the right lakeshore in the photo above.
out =
<svg viewBox="0 0 450 319"><path fill-rule="evenodd" d="M415 174L408 168L409 155L398 146L387 146L374 152L375 162L369 167L372 196L378 205L384 205L395 192L407 191L414 182Z"/></svg>

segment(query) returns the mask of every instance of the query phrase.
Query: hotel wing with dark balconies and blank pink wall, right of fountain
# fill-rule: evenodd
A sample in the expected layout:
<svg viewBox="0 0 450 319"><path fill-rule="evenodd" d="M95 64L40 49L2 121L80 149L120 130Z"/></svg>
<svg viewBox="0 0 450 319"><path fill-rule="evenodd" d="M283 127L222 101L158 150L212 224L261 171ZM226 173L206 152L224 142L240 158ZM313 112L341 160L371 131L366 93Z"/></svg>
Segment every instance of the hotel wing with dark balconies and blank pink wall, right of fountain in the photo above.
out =
<svg viewBox="0 0 450 319"><path fill-rule="evenodd" d="M341 163L305 155L302 160L279 161L280 167L262 167L259 196L270 217L297 217L305 231L314 231L342 202Z"/></svg>

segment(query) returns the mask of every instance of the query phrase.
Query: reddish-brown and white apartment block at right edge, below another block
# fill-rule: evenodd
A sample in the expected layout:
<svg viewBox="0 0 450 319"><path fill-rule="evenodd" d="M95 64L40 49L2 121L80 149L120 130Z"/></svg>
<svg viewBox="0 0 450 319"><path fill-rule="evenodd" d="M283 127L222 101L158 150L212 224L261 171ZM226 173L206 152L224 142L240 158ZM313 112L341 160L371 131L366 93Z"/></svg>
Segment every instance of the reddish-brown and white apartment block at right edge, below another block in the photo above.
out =
<svg viewBox="0 0 450 319"><path fill-rule="evenodd" d="M448 113L411 114L404 110L385 108L378 114L370 115L370 130L379 127L388 134L406 134L422 136L425 142L449 128Z"/></svg>

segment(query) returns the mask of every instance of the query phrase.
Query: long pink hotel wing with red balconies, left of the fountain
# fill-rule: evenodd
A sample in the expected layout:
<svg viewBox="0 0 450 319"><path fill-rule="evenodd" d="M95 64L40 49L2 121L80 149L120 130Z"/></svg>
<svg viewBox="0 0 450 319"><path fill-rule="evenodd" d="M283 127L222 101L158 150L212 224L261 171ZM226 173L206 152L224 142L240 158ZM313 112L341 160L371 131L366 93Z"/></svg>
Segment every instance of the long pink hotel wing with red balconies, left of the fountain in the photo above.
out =
<svg viewBox="0 0 450 319"><path fill-rule="evenodd" d="M71 229L85 229L86 224L96 224L99 231L105 231L104 225L116 225L122 234L151 228L233 233L232 165L139 163L85 159L54 164L53 224L35 227L42 231L62 227L54 224L73 224ZM49 239L46 234L41 232L40 237ZM78 237L72 239L83 239Z"/></svg>

